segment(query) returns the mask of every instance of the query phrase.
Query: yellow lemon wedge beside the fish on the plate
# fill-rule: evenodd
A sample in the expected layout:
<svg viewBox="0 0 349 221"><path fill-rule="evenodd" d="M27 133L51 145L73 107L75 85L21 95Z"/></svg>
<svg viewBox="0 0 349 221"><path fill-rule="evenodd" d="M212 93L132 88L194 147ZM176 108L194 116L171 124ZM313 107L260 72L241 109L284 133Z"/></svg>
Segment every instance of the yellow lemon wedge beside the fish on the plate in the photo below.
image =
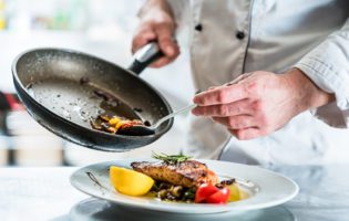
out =
<svg viewBox="0 0 349 221"><path fill-rule="evenodd" d="M147 193L154 185L154 180L144 173L116 166L110 167L110 179L119 192L133 197Z"/></svg>

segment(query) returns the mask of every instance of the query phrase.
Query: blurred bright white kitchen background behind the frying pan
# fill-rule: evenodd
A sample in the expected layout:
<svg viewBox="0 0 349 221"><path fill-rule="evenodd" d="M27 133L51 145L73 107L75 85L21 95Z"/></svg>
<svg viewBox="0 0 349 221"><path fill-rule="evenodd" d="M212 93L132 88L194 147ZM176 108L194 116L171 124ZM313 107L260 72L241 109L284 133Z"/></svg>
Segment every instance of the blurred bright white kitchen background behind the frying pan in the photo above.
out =
<svg viewBox="0 0 349 221"><path fill-rule="evenodd" d="M146 157L154 151L179 152L186 145L187 115L158 141L129 152L102 152L64 141L38 125L18 104L11 63L33 48L68 48L127 66L138 0L0 0L0 165L88 165L125 157ZM173 108L194 94L186 51L186 31L179 34L181 56L142 77L158 88Z"/></svg>

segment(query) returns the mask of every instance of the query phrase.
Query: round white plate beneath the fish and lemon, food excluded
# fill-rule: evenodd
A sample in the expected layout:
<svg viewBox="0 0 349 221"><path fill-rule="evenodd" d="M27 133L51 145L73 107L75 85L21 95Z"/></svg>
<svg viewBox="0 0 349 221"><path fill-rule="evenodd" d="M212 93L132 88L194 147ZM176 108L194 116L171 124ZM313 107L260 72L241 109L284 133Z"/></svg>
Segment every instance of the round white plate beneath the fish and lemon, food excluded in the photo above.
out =
<svg viewBox="0 0 349 221"><path fill-rule="evenodd" d="M136 207L148 210L181 213L215 213L225 211L242 212L269 208L292 199L298 193L298 186L291 179L256 167L217 160L198 160L215 171L219 178L236 178L240 187L250 197L227 204L164 202L148 197L129 197L119 193L110 183L110 166L130 168L133 161L150 159L125 159L101 162L83 167L71 176L71 183L86 194L101 198L116 204Z"/></svg>

